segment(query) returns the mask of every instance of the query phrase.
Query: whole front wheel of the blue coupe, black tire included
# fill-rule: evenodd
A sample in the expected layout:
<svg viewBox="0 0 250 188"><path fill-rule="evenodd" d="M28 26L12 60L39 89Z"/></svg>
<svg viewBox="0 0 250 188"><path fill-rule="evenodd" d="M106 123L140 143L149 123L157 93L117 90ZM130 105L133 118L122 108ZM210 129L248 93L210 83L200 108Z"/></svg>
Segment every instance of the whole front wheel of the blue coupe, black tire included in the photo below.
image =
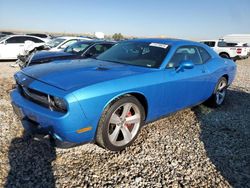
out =
<svg viewBox="0 0 250 188"><path fill-rule="evenodd" d="M133 96L123 96L103 111L96 143L104 149L121 151L134 142L144 119L145 111L141 103Z"/></svg>

